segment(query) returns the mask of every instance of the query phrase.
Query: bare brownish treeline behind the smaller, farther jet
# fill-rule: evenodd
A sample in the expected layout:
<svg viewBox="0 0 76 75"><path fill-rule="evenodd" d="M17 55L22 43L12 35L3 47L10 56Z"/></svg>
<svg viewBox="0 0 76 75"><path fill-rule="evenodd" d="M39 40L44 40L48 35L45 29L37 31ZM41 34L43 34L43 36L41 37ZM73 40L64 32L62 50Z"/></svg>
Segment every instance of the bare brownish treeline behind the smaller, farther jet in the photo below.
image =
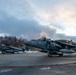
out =
<svg viewBox="0 0 76 75"><path fill-rule="evenodd" d="M15 46L20 47L23 46L26 39L23 38L17 38L15 36L0 36L0 44L6 45L6 46Z"/></svg>

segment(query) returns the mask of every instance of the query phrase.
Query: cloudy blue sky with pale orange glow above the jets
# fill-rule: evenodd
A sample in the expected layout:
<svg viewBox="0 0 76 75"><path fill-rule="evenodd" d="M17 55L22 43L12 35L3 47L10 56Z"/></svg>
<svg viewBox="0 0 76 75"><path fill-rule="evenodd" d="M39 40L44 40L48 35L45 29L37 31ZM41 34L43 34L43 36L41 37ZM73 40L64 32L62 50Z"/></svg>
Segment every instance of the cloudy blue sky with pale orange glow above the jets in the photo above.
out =
<svg viewBox="0 0 76 75"><path fill-rule="evenodd" d="M0 0L0 36L76 41L76 0Z"/></svg>

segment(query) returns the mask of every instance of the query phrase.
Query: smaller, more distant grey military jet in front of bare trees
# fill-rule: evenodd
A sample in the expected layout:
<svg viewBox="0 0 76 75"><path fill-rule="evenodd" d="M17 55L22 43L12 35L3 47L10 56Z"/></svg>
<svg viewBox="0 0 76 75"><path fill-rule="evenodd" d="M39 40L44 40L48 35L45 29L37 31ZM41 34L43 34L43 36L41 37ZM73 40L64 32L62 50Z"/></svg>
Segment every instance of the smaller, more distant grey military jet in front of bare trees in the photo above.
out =
<svg viewBox="0 0 76 75"><path fill-rule="evenodd" d="M24 52L24 49L13 47L13 46L1 45L0 46L0 51L2 52L2 54L5 54L5 53L12 53L12 54L14 54L15 52L17 52L17 53L19 53L20 51Z"/></svg>

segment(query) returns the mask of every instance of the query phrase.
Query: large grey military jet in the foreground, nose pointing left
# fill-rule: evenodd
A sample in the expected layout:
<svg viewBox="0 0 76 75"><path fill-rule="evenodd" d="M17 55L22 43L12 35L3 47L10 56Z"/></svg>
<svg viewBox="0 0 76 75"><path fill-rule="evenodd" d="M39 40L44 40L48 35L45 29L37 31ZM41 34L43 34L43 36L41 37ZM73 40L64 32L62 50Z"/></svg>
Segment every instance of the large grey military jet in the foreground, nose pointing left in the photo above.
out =
<svg viewBox="0 0 76 75"><path fill-rule="evenodd" d="M76 52L75 45L72 44L72 40L61 42L57 40L46 39L46 37L43 37L42 39L27 41L25 42L25 45L40 48L41 52L47 53L48 56L63 56L64 53L71 54Z"/></svg>

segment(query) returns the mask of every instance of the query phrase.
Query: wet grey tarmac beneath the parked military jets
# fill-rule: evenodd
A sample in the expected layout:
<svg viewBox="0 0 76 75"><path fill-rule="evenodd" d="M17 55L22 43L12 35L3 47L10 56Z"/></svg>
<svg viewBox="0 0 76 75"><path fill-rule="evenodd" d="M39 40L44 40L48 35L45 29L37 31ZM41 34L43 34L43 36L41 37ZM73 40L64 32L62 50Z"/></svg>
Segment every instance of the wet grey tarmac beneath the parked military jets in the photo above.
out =
<svg viewBox="0 0 76 75"><path fill-rule="evenodd" d="M0 75L76 75L76 54L48 57L46 53L0 54Z"/></svg>

